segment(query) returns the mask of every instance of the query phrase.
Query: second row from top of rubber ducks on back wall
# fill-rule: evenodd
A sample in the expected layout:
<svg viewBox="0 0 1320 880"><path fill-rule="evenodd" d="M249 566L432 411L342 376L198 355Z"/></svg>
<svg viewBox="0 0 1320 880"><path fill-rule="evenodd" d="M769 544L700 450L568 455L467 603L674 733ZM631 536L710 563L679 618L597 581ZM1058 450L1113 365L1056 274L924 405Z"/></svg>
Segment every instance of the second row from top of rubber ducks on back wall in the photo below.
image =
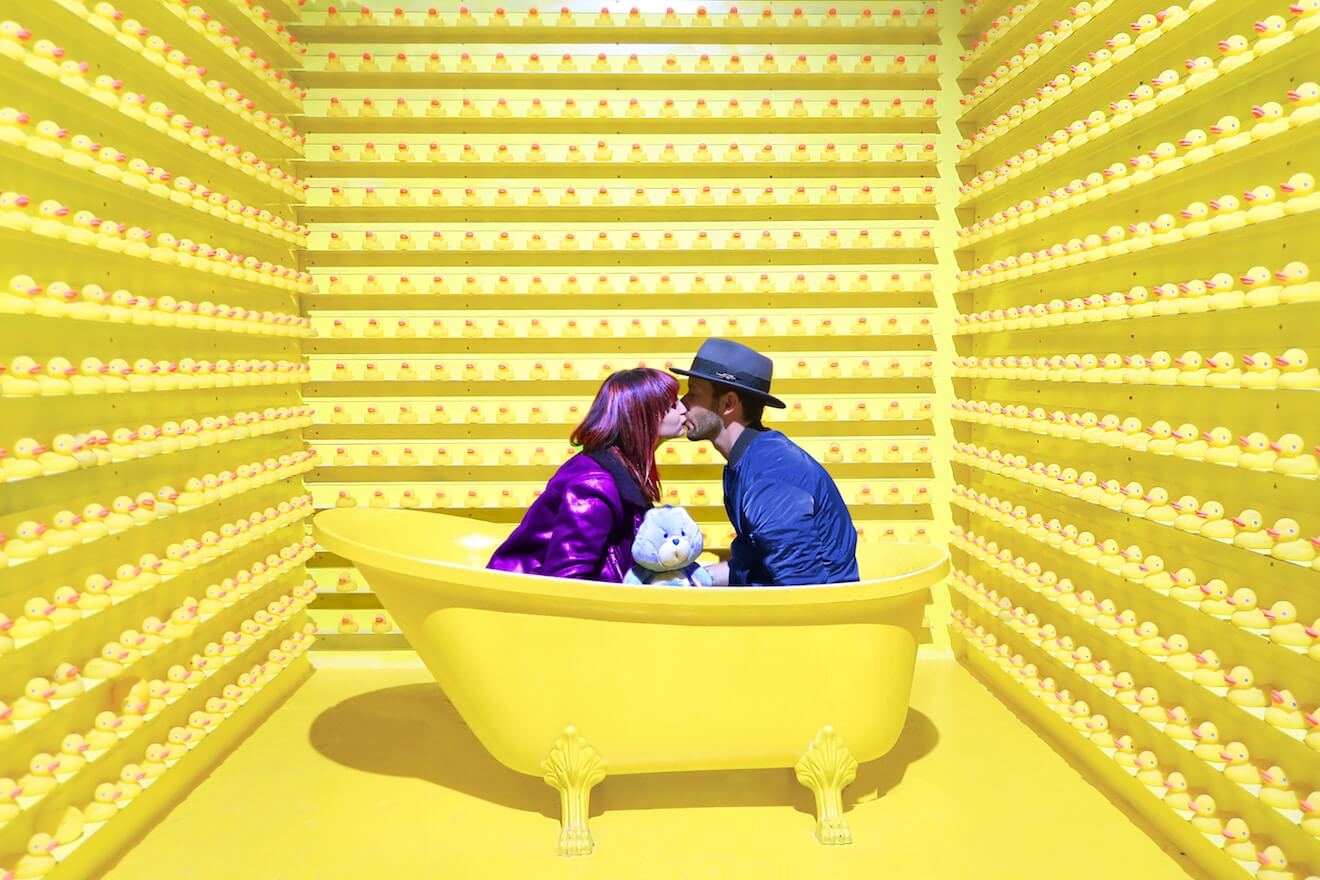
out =
<svg viewBox="0 0 1320 880"><path fill-rule="evenodd" d="M478 61L473 58L471 53L461 51L458 58L453 59L455 73L513 73L513 63L504 55L503 51L496 51L494 55L482 57L480 66ZM585 59L583 59L585 63ZM690 63L690 67L688 66ZM717 70L717 63L721 67ZM618 70L616 70L618 66ZM362 53L362 57L356 61L355 67L348 67L345 59L339 57L338 53L330 51L326 54L321 71L323 73L345 73L352 71L359 74L375 74L375 73L391 73L391 74L409 74L409 73L426 73L426 74L441 74L449 73L449 66L445 63L445 54L440 51L433 51L425 58L418 57L416 62L408 57L408 53L399 51L395 53L393 59L388 65L383 65L376 59L370 51ZM520 73L550 73L545 67L545 61L541 58L540 53L531 53L519 66ZM572 53L565 51L560 55L558 63L553 67L553 73L572 74L578 73L578 59L573 57ZM612 74L612 73L626 73L626 74L680 74L680 73L693 73L693 74L742 74L748 73L746 65L743 63L742 55L733 54L727 57L711 58L708 53L701 53L694 59L690 55L684 55L682 59L675 53L664 55L639 55L638 53L631 53L626 59L619 62L618 58L611 58L606 53L597 53L595 58L591 61L590 71L593 74ZM310 70L309 73L317 73ZM913 70L908 66L907 55L895 55L886 63L876 63L876 59L871 54L858 55L851 66L845 70L843 62L840 59L838 53L829 53L825 57L810 55L805 53L799 53L793 59L792 65L787 69L781 67L779 58L774 53L766 53L760 63L756 65L755 73L759 74L887 74L891 77L900 77L906 74L919 74L924 77L935 77L940 73L940 65L937 55L927 55L925 61L920 62Z"/></svg>

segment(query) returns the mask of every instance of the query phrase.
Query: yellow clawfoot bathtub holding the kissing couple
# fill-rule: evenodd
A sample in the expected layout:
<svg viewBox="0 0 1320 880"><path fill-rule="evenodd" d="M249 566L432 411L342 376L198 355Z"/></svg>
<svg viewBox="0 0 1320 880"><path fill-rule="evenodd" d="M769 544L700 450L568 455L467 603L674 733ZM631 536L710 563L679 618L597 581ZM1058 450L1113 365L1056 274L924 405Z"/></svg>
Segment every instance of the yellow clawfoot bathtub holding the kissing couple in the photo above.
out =
<svg viewBox="0 0 1320 880"><path fill-rule="evenodd" d="M477 739L561 796L560 852L591 851L606 773L795 768L817 838L847 843L842 789L903 730L917 633L948 554L859 545L861 583L624 587L487 570L508 525L326 511L352 561Z"/></svg>

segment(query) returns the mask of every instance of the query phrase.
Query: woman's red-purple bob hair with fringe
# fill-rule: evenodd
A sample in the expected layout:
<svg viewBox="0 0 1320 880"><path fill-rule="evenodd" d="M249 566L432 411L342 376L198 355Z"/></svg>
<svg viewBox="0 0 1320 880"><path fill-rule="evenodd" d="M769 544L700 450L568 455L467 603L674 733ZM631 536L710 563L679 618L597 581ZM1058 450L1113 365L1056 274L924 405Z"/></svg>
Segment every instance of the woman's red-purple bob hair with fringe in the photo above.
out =
<svg viewBox="0 0 1320 880"><path fill-rule="evenodd" d="M660 500L660 468L656 446L660 422L678 402L678 380L649 367L620 369L601 383L572 442L586 453L614 453L651 501Z"/></svg>

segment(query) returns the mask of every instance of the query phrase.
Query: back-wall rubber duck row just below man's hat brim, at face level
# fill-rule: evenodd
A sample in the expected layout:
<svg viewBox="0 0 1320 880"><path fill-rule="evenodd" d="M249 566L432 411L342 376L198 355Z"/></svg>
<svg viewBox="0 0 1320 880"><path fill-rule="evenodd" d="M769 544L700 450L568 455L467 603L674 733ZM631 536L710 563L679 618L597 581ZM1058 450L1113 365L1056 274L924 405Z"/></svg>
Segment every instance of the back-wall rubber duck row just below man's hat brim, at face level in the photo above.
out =
<svg viewBox="0 0 1320 880"><path fill-rule="evenodd" d="M577 404L566 404L560 408L545 401L533 402L525 408L508 402L500 404L495 408L494 420L486 408L479 404L469 405L466 401L462 401L459 406L463 409L463 413L462 416L455 416L449 408L446 408L445 404L436 404L428 414L426 421L432 425L447 425L454 422L484 425L492 421L496 425L548 425L550 427L564 427L565 431L561 433L569 433L574 425L582 421L583 416ZM874 418L928 421L933 414L932 402L929 400L859 400L853 402L851 406L847 405L847 401L821 402L816 409L814 418L830 421L838 418L840 413L843 412L846 412L849 418L854 421L870 421ZM880 413L880 416L875 416L875 413ZM807 421L807 408L801 401L793 401L785 410L785 418L796 422ZM345 404L335 404L330 412L329 424L420 425L422 424L422 420L421 414L411 404L400 405L399 412L391 420L385 418L385 413L380 406L348 406Z"/></svg>

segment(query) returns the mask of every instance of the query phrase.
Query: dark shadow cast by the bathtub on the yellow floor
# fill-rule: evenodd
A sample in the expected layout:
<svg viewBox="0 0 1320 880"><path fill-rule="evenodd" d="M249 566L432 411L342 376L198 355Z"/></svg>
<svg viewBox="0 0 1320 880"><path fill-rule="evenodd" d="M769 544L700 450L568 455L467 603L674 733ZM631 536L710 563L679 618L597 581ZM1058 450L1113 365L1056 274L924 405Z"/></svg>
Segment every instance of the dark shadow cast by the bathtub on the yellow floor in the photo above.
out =
<svg viewBox="0 0 1320 880"><path fill-rule="evenodd" d="M515 773L473 736L436 685L405 685L346 699L321 712L309 734L321 755L352 769L413 777L499 806L560 818L558 796L539 777ZM935 748L939 731L909 710L894 749L861 764L845 807L883 797L909 764ZM606 810L780 806L814 815L810 793L789 769L639 773L607 777L591 793L591 815Z"/></svg>

